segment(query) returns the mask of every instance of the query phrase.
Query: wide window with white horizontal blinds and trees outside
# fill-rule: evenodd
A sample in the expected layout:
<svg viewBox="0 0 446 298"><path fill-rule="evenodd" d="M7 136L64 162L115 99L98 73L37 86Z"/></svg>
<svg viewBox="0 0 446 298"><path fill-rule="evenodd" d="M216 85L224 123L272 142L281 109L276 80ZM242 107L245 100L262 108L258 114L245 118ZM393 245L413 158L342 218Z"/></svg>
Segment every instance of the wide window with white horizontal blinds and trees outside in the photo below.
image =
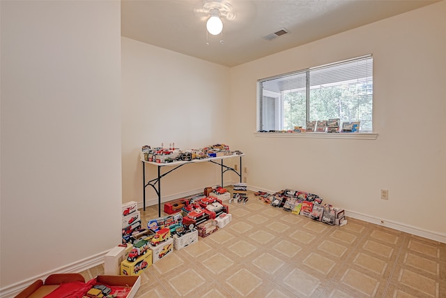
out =
<svg viewBox="0 0 446 298"><path fill-rule="evenodd" d="M367 55L259 80L258 131L293 131L307 121L360 122L373 131L373 57Z"/></svg>

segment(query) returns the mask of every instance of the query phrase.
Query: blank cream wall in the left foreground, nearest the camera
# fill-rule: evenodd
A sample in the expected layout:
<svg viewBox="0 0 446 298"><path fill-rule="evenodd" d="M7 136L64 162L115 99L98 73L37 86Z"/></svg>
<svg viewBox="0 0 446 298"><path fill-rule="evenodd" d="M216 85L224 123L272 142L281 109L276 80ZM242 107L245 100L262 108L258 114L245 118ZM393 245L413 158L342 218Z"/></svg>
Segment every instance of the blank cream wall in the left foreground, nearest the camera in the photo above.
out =
<svg viewBox="0 0 446 298"><path fill-rule="evenodd" d="M121 34L119 1L0 8L5 297L121 241Z"/></svg>

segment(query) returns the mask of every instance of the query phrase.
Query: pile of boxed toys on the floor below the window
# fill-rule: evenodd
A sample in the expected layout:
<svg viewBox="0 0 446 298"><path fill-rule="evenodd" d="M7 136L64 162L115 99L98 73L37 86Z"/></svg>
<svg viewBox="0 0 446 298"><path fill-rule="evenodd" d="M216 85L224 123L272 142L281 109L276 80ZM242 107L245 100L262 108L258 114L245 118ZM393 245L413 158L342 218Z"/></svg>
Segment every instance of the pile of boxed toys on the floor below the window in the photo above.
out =
<svg viewBox="0 0 446 298"><path fill-rule="evenodd" d="M270 204L272 207L283 208L293 214L307 216L315 221L321 221L328 225L346 224L344 209L334 207L331 204L322 204L323 198L313 193L286 188L284 191L274 194L259 191L254 195L259 196L259 200Z"/></svg>

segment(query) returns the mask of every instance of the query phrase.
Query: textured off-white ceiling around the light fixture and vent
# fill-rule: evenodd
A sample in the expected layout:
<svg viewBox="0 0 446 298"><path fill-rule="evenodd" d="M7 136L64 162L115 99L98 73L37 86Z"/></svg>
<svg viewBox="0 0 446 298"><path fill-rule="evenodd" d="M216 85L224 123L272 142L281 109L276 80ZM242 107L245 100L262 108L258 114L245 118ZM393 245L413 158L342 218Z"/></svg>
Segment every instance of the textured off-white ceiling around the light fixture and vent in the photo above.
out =
<svg viewBox="0 0 446 298"><path fill-rule="evenodd" d="M206 1L121 0L121 35L224 66L236 66L406 13L438 1L226 0L231 20L223 32L206 33ZM263 37L285 28L289 33ZM222 42L220 42L222 40Z"/></svg>

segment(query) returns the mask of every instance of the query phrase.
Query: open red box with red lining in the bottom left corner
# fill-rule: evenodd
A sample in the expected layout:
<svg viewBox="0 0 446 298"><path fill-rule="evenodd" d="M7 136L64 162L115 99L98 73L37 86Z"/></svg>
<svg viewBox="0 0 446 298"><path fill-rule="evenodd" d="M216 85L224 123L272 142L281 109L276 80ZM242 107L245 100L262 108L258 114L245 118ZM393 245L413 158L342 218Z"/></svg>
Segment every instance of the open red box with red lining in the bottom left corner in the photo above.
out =
<svg viewBox="0 0 446 298"><path fill-rule="evenodd" d="M100 275L85 282L85 279L81 274L51 274L45 279L45 282L40 279L35 281L22 290L22 292L15 296L15 298L43 298L50 293L51 297L68 297L67 293L63 292L63 288L59 288L61 284L72 285L70 291L76 291L79 293L79 297L86 295L86 292L88 292L93 285L108 285L111 287L122 288L122 290L114 290L114 292L111 292L111 295L120 291L123 292L125 297L133 298L141 285L141 278L139 276Z"/></svg>

